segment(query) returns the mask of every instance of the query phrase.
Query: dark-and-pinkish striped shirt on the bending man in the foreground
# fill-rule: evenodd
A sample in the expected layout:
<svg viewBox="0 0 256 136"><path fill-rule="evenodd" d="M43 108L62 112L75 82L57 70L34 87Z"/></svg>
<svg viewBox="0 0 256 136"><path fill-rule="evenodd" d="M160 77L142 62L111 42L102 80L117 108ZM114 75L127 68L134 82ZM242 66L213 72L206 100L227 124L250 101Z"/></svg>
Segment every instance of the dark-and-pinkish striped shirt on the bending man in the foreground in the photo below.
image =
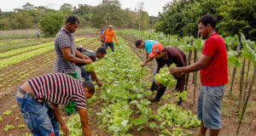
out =
<svg viewBox="0 0 256 136"><path fill-rule="evenodd" d="M78 108L86 110L86 98L82 83L64 73L52 73L27 81L38 102L43 100L67 105L74 101Z"/></svg>

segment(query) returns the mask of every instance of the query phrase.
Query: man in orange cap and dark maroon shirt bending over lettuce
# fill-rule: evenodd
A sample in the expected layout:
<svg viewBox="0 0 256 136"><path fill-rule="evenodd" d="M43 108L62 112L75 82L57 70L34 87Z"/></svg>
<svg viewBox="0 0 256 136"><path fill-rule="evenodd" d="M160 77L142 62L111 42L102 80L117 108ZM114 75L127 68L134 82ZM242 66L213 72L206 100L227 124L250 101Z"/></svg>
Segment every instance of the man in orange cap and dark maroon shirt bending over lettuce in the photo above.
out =
<svg viewBox="0 0 256 136"><path fill-rule="evenodd" d="M157 72L160 71L160 68L164 67L165 65L172 65L174 63L177 67L182 67L187 65L186 55L183 51L176 47L166 47L163 48L163 45L160 43L156 43L152 47L152 51L149 54L149 57L156 58L157 61ZM173 77L177 80L177 84L175 89L182 93L185 85L185 74L180 74L179 76L173 75ZM156 82L156 84L158 84ZM160 98L166 92L166 87L159 85L157 89L157 94L154 99L149 99L152 102L160 101ZM182 105L182 99L179 98L177 105Z"/></svg>

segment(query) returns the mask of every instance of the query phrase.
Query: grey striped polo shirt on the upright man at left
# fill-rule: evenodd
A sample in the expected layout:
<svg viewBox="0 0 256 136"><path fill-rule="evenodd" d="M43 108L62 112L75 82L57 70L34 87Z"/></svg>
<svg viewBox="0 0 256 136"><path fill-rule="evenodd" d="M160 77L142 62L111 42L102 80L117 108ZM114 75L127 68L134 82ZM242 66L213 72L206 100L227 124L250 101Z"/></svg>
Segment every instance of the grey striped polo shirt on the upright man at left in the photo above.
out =
<svg viewBox="0 0 256 136"><path fill-rule="evenodd" d="M54 72L75 73L75 64L64 59L61 48L70 48L70 53L75 56L75 42L73 33L67 31L64 26L55 37L55 65Z"/></svg>

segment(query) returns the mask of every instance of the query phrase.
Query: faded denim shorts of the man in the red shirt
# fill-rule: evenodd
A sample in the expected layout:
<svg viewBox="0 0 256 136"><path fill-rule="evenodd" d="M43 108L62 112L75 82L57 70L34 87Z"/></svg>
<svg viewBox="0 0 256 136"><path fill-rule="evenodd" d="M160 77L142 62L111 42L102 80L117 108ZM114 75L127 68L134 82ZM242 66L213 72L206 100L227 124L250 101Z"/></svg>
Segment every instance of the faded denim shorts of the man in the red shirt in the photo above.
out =
<svg viewBox="0 0 256 136"><path fill-rule="evenodd" d="M224 85L201 85L198 97L197 117L209 129L221 128L221 103L224 95Z"/></svg>

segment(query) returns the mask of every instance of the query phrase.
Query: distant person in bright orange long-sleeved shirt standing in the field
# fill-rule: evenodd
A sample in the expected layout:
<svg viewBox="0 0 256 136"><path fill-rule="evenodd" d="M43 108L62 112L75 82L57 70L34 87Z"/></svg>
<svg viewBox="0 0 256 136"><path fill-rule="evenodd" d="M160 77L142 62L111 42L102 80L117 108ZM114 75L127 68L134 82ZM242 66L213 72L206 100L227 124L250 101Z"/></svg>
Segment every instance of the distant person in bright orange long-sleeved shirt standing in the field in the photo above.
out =
<svg viewBox="0 0 256 136"><path fill-rule="evenodd" d="M113 38L114 41L119 45L119 42L117 42L117 39L115 37L115 34L113 32L113 26L109 25L108 26L108 30L106 30L101 37L98 38L98 40L100 40L100 38L106 36L105 38L105 43L104 43L104 48L105 50L108 49L108 46L111 48L111 50L113 51Z"/></svg>

